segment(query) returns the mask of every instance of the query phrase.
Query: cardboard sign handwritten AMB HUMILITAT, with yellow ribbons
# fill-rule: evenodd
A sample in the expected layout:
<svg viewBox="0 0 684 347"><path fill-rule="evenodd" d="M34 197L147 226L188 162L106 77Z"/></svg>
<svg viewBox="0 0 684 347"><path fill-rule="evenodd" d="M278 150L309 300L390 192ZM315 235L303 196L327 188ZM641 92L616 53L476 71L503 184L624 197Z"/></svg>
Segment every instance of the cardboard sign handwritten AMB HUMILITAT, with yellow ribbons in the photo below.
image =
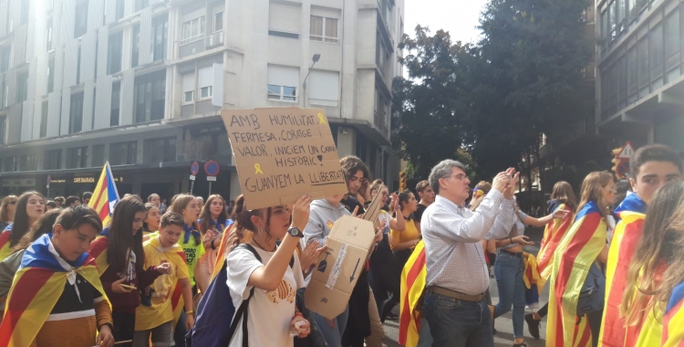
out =
<svg viewBox="0 0 684 347"><path fill-rule="evenodd" d="M249 209L347 193L326 112L222 110Z"/></svg>

